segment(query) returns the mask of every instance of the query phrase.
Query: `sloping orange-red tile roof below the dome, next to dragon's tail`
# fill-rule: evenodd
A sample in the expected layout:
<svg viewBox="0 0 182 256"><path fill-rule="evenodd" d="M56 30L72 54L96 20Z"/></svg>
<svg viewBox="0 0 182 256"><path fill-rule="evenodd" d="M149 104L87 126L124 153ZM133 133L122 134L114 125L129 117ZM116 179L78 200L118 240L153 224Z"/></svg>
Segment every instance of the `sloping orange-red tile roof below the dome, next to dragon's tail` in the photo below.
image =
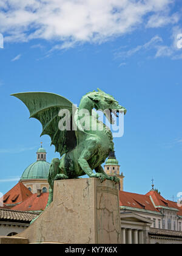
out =
<svg viewBox="0 0 182 256"><path fill-rule="evenodd" d="M25 199L21 204L13 207L13 210L21 211L39 211L44 210L47 205L49 193L42 193L40 196L38 194L32 194L27 199Z"/></svg>

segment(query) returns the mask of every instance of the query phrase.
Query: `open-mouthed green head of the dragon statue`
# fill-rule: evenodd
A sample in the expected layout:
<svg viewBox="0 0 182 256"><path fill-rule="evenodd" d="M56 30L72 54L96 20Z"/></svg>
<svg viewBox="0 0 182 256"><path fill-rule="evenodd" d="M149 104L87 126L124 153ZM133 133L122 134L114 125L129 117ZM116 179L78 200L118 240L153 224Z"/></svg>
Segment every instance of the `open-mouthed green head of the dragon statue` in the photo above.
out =
<svg viewBox="0 0 182 256"><path fill-rule="evenodd" d="M116 101L113 96L104 93L104 91L101 91L99 88L98 91L88 93L87 97L93 101L93 107L96 108L96 110L101 110L104 113L110 124L115 123L112 113L116 117L118 117L118 113L124 112L124 115L126 114L126 108L118 104L118 101Z"/></svg>

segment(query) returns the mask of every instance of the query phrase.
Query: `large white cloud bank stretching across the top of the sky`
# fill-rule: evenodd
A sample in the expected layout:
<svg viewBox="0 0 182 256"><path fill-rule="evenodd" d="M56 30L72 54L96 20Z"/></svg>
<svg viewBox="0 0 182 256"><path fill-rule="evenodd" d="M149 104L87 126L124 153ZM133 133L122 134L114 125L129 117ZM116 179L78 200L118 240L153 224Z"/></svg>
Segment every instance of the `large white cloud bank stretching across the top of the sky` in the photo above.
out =
<svg viewBox="0 0 182 256"><path fill-rule="evenodd" d="M172 0L1 0L0 31L5 41L41 38L59 41L60 49L76 43L102 43L129 33L143 21L164 26ZM160 18L160 16L163 18ZM169 20L167 20L169 19Z"/></svg>

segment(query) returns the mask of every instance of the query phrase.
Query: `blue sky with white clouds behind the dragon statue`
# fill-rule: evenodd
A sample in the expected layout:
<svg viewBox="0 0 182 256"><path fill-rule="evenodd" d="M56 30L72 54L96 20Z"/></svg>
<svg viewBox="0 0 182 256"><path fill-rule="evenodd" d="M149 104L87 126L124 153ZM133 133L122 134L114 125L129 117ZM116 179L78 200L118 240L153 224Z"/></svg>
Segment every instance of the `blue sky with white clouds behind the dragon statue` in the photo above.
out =
<svg viewBox="0 0 182 256"><path fill-rule="evenodd" d="M124 190L182 191L180 0L0 2L0 192L35 162L41 124L12 93L49 91L79 104L97 87L127 108L115 151ZM182 46L182 43L181 43Z"/></svg>

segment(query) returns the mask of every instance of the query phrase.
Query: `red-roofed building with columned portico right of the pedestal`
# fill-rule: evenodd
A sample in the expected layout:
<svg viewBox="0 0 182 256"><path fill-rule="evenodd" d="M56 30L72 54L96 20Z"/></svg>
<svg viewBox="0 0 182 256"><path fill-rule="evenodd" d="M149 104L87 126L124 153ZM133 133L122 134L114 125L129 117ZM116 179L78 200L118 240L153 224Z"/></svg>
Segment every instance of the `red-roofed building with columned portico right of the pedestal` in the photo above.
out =
<svg viewBox="0 0 182 256"><path fill-rule="evenodd" d="M180 202L166 200L153 189L147 194L119 193L123 243L182 243Z"/></svg>

